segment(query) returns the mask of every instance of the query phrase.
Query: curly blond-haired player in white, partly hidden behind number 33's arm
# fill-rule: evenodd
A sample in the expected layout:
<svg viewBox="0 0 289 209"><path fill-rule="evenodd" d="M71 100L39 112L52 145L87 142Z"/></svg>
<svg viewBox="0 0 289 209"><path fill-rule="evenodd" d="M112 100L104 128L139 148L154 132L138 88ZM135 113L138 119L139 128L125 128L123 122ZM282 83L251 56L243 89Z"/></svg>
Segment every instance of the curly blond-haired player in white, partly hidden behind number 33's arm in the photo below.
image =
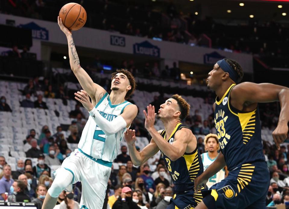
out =
<svg viewBox="0 0 289 209"><path fill-rule="evenodd" d="M208 150L208 152L203 153L201 155L202 162L204 166L204 171L206 168L209 167L209 165L212 164L212 162L215 161L215 159L218 156L218 150L219 150L219 140L218 136L216 134L208 134L205 137L205 147ZM206 183L208 188L213 186L215 183L219 183L221 180L223 180L228 175L227 166L225 168L221 169L218 173L213 175L209 178L208 182Z"/></svg>

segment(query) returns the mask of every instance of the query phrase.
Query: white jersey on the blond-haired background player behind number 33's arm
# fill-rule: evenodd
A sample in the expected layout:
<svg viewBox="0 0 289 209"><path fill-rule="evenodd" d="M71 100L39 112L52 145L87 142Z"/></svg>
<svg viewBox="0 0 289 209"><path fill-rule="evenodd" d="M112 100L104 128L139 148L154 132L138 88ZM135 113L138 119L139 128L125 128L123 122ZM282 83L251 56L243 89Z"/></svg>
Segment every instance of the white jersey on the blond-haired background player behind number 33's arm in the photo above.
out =
<svg viewBox="0 0 289 209"><path fill-rule="evenodd" d="M212 164L212 162L215 161L215 159L211 159L209 157L209 153L207 153L207 152L202 154L204 171L209 167L209 165ZM222 168L218 173L216 173L215 175L213 175L212 177L209 178L209 180L207 182L208 188L210 188L211 186L213 186L216 183L219 183L224 178L225 178L225 170Z"/></svg>

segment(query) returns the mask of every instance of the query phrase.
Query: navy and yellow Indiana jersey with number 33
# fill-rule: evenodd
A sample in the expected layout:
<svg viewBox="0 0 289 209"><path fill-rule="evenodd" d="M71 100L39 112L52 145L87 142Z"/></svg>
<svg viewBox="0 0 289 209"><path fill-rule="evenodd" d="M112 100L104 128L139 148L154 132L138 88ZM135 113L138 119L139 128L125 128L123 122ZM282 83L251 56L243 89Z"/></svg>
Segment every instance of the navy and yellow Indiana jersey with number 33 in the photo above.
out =
<svg viewBox="0 0 289 209"><path fill-rule="evenodd" d="M242 112L230 104L232 84L219 100L216 98L215 128L220 150L228 170L245 163L265 161L262 152L259 108Z"/></svg>

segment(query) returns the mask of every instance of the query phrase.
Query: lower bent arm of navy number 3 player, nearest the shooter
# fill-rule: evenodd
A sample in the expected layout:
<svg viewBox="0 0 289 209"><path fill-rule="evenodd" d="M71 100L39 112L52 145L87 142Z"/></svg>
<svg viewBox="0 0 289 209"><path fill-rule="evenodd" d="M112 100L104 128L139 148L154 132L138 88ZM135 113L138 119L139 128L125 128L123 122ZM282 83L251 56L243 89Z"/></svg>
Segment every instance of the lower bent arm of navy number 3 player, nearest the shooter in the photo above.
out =
<svg viewBox="0 0 289 209"><path fill-rule="evenodd" d="M151 139L150 143L146 145L142 151L137 151L135 146L135 142L137 140L135 130L127 129L127 131L124 133L124 139L128 146L131 161L135 166L142 165L159 151L159 148L153 139Z"/></svg>

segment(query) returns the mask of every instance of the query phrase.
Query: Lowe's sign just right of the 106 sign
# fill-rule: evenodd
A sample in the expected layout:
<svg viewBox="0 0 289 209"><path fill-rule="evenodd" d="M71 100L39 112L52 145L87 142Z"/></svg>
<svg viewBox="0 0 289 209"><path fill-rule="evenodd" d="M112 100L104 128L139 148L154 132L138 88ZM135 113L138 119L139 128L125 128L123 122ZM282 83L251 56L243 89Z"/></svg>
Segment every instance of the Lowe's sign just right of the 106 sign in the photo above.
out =
<svg viewBox="0 0 289 209"><path fill-rule="evenodd" d="M134 44L134 54L148 55L148 56L160 56L159 47L152 45L148 41Z"/></svg>

